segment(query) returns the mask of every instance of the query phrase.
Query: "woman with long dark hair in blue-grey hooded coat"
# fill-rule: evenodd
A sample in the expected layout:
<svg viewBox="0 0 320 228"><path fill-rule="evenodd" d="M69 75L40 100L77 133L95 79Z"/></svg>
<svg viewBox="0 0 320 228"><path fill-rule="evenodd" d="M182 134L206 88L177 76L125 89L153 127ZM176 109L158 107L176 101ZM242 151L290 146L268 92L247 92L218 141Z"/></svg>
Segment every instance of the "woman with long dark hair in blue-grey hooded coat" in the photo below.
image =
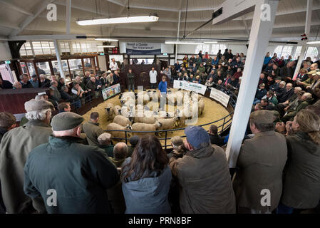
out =
<svg viewBox="0 0 320 228"><path fill-rule="evenodd" d="M171 170L155 135L143 135L121 171L126 214L170 213Z"/></svg>

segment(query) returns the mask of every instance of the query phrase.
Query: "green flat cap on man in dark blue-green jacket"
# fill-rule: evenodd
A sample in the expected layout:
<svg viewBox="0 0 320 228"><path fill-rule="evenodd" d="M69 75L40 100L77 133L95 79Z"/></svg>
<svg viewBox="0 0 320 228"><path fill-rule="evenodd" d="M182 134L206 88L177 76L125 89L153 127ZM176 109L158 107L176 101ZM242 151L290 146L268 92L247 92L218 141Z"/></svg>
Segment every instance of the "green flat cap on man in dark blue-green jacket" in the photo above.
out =
<svg viewBox="0 0 320 228"><path fill-rule="evenodd" d="M59 113L58 115L53 116L51 120L52 130L61 131L61 130L71 130L78 127L83 122L81 115L71 112Z"/></svg>

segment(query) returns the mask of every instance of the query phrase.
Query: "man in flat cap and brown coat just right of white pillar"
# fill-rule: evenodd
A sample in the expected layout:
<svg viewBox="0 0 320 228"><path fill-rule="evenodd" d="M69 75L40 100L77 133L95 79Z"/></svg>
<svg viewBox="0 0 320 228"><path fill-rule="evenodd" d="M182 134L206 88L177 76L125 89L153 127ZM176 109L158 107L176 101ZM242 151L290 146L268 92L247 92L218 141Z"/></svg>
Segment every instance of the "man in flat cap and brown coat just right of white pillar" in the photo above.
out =
<svg viewBox="0 0 320 228"><path fill-rule="evenodd" d="M238 213L269 214L279 204L287 143L283 135L274 131L275 119L271 110L257 110L250 115L254 138L242 144L237 160L239 171L233 183Z"/></svg>

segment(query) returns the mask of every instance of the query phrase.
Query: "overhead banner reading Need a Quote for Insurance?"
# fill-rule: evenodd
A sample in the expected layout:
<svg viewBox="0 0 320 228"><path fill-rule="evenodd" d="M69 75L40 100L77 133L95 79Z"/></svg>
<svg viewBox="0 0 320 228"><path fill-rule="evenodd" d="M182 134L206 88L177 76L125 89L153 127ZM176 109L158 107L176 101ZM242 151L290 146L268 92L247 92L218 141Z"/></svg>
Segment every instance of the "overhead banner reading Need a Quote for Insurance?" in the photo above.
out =
<svg viewBox="0 0 320 228"><path fill-rule="evenodd" d="M125 43L125 52L128 55L160 55L161 43Z"/></svg>

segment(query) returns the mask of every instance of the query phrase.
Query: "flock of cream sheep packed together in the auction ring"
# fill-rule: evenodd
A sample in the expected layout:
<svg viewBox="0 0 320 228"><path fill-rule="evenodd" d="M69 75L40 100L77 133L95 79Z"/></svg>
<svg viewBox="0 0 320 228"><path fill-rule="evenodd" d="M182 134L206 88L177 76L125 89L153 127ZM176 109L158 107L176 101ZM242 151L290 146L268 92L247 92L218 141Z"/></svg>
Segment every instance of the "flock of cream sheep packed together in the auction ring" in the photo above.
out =
<svg viewBox="0 0 320 228"><path fill-rule="evenodd" d="M107 125L107 130L145 132L182 128L186 119L202 115L205 109L204 97L187 90L168 90L166 98L168 111L160 110L160 94L156 90L125 92L119 95L119 99L122 106L106 104L107 118L113 119L113 123ZM123 131L110 131L110 134L113 138L125 138Z"/></svg>

